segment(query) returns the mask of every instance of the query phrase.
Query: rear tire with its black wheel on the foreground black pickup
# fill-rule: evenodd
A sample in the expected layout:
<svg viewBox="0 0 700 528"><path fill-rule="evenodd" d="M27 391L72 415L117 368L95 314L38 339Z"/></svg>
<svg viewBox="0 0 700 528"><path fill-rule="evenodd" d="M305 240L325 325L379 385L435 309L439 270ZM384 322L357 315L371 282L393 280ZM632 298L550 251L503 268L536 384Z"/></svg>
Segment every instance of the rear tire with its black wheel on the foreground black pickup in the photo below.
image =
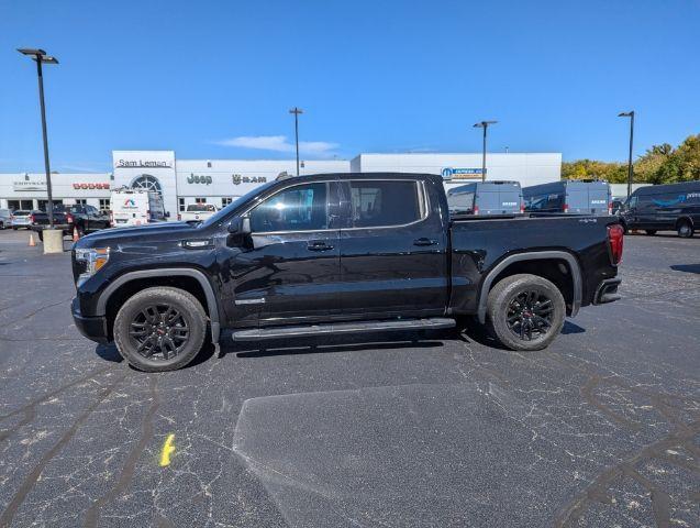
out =
<svg viewBox="0 0 700 528"><path fill-rule="evenodd" d="M491 288L487 316L489 330L508 349L542 350L562 331L566 304L559 289L546 278L518 274Z"/></svg>

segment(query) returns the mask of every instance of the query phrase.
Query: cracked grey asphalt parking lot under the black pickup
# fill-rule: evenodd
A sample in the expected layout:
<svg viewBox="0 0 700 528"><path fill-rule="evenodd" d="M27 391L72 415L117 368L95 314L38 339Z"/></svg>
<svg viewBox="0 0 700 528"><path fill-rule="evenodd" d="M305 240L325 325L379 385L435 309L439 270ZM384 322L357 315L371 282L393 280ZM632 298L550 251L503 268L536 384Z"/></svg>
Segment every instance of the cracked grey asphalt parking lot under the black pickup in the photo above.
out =
<svg viewBox="0 0 700 528"><path fill-rule="evenodd" d="M27 238L0 231L1 527L700 526L699 237L627 237L623 300L546 351L356 336L164 374L81 338L69 254Z"/></svg>

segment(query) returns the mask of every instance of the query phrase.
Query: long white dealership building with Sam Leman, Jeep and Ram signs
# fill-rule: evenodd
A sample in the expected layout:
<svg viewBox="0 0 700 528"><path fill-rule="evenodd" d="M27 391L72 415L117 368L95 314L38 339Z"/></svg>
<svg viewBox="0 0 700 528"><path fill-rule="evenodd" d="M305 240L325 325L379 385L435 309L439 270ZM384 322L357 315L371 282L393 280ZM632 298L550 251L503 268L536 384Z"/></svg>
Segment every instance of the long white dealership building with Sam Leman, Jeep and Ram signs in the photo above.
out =
<svg viewBox="0 0 700 528"><path fill-rule="evenodd" d="M300 174L403 172L442 175L445 187L481 179L481 154L359 154L353 160L303 161ZM141 187L163 195L166 211L176 218L189 204L230 204L255 187L295 175L295 160L176 160L174 151L113 151L112 172L54 173L56 202L110 209L111 189ZM488 154L487 180L529 185L560 179L562 154ZM0 174L0 209L43 209L46 177L40 173Z"/></svg>

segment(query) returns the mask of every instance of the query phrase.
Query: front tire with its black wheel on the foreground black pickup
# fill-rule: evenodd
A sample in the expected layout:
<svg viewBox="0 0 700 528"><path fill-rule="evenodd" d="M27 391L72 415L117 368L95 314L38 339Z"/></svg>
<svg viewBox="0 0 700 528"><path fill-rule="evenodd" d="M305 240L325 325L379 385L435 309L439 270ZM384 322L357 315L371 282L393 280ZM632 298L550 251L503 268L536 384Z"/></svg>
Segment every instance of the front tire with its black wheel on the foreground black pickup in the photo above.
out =
<svg viewBox="0 0 700 528"><path fill-rule="evenodd" d="M179 316L173 317L168 326L167 316L173 316L170 309ZM131 330L136 336L130 334ZM189 292L165 286L147 288L122 305L114 319L113 333L119 353L130 365L144 372L175 371L190 363L201 350L207 316L202 305ZM187 338L182 340L186 333Z"/></svg>

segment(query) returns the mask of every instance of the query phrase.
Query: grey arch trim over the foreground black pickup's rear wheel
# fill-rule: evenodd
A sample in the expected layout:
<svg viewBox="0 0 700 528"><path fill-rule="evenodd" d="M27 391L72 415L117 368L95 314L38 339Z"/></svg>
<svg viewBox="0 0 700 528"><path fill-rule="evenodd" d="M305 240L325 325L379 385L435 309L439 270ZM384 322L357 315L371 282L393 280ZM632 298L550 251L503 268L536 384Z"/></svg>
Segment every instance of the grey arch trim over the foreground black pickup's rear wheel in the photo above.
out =
<svg viewBox="0 0 700 528"><path fill-rule="evenodd" d="M493 286L496 279L503 274L503 272L508 271L510 266L519 263L529 263L532 261L564 261L565 265L568 268L570 280L571 280L571 310L570 317L575 317L578 314L578 310L581 306L581 299L584 297L584 283L581 279L581 270L578 264L578 261L574 255L566 251L532 251L525 253L514 253L512 255L508 255L505 258L496 264L486 275L484 282L481 283L481 287L479 289L479 304L477 309L477 317L479 322L486 322L486 311L487 311L487 302L488 295ZM509 273L505 276L513 275L519 272L515 267L513 267L513 273ZM534 275L542 276L544 278L548 278L543 274L534 273ZM501 277L503 278L503 277ZM558 285L557 285L558 286ZM560 286L558 286L560 289ZM566 295L565 295L566 298Z"/></svg>

